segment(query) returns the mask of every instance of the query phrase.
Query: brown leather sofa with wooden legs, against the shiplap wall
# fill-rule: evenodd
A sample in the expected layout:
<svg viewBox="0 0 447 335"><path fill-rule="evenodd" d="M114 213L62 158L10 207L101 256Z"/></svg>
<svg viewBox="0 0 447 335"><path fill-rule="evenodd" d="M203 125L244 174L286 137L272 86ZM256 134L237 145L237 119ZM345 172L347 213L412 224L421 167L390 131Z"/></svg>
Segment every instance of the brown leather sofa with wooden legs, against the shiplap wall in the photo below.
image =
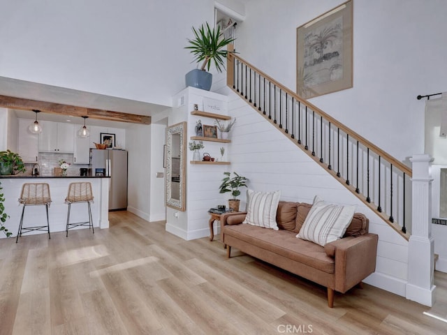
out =
<svg viewBox="0 0 447 335"><path fill-rule="evenodd" d="M312 204L280 201L277 209L279 230L244 224L246 212L221 216L221 241L231 248L281 267L328 289L328 306L334 291L345 293L360 284L376 269L378 235L368 233L368 218L354 214L342 239L324 247L296 237Z"/></svg>

